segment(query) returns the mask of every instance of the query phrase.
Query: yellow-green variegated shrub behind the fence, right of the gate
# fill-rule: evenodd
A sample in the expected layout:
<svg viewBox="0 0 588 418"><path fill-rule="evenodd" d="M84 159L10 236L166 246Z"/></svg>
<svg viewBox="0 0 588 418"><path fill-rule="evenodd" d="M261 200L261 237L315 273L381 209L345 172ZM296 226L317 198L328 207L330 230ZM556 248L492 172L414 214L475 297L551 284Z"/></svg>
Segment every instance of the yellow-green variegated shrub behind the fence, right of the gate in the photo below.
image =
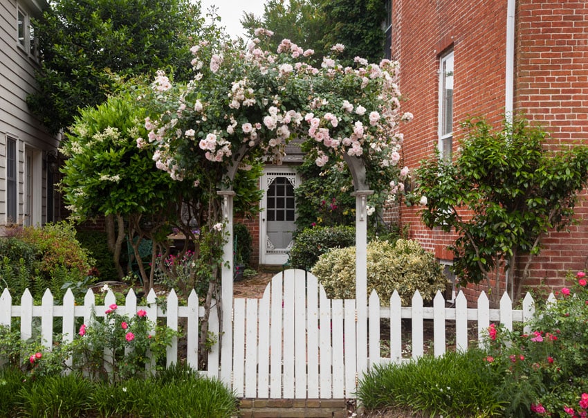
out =
<svg viewBox="0 0 588 418"><path fill-rule="evenodd" d="M355 247L336 248L322 255L312 273L330 298L355 298ZM383 305L388 305L394 290L398 291L403 305L410 305L416 290L423 300L432 300L446 284L439 262L419 242L398 239L396 244L387 241L367 244L368 295L375 290Z"/></svg>

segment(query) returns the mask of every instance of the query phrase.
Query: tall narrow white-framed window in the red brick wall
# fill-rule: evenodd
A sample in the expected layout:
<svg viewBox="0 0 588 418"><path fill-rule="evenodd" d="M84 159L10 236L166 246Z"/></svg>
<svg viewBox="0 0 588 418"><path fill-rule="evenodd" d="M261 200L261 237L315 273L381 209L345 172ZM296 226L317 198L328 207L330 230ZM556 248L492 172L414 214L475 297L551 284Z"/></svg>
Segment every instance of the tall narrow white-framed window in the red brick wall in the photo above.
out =
<svg viewBox="0 0 588 418"><path fill-rule="evenodd" d="M439 153L451 158L453 147L453 51L439 60Z"/></svg>

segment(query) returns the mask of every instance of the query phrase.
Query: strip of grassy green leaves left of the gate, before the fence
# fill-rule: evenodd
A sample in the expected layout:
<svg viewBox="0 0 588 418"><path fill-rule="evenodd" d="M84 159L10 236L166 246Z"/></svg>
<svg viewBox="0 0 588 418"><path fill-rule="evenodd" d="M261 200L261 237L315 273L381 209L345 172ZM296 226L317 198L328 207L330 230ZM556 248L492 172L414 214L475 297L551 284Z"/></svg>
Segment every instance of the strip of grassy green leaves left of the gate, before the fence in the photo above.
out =
<svg viewBox="0 0 588 418"><path fill-rule="evenodd" d="M0 397L0 417L230 418L237 413L237 400L223 383L181 365L117 384L75 373L28 379L3 369Z"/></svg>

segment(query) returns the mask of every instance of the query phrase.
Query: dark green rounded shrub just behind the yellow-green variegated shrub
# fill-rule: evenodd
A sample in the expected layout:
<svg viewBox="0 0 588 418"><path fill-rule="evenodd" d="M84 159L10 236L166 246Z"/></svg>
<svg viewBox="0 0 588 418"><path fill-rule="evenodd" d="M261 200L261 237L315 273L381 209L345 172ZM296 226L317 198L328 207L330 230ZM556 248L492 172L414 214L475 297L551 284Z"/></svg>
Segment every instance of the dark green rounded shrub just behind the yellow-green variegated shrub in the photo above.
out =
<svg viewBox="0 0 588 418"><path fill-rule="evenodd" d="M295 269L310 269L320 255L331 248L352 246L356 241L352 226L318 226L306 228L296 235L290 250L290 264Z"/></svg>

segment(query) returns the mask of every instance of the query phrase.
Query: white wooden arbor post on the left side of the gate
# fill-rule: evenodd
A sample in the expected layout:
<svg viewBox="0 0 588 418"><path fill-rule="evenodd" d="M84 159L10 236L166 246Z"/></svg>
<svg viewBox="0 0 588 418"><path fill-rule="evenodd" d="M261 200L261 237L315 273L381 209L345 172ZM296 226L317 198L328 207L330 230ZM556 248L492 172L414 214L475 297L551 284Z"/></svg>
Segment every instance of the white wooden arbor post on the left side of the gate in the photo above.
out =
<svg viewBox="0 0 588 418"><path fill-rule="evenodd" d="M233 242L232 242L232 208L235 192L221 190L217 192L223 197L223 237L226 239L223 245L223 265L221 267L221 303L223 318L221 336L221 375L219 378L226 385L231 384L232 371L232 275L233 275ZM211 312L211 315L214 315Z"/></svg>

